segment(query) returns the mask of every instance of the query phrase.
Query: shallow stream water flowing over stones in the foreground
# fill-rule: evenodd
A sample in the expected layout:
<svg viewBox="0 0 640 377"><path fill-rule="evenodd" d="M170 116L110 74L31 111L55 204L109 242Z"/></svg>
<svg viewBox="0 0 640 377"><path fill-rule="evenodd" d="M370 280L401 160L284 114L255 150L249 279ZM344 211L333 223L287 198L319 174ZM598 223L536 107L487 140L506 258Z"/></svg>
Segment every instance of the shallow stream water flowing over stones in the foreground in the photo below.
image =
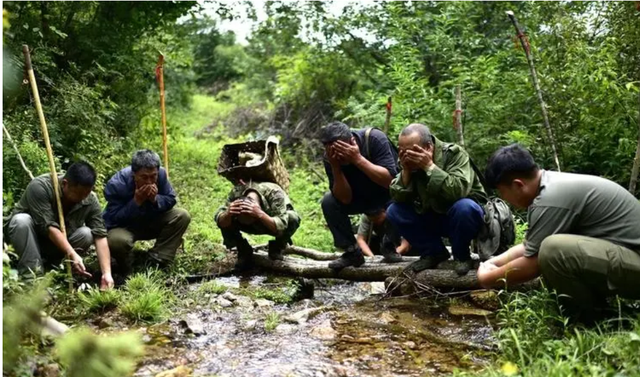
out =
<svg viewBox="0 0 640 377"><path fill-rule="evenodd" d="M218 281L236 292L268 284L265 277ZM176 318L138 329L148 352L136 376L180 365L192 376L437 376L487 361L494 339L486 318L449 315L447 300L382 300L372 294L376 286L329 282L316 285L313 299L291 305L257 306L240 295L225 308L211 304L215 295L185 301ZM310 308L319 309L299 323L285 320ZM267 331L273 312L279 324ZM189 333L184 318L195 319L203 334Z"/></svg>

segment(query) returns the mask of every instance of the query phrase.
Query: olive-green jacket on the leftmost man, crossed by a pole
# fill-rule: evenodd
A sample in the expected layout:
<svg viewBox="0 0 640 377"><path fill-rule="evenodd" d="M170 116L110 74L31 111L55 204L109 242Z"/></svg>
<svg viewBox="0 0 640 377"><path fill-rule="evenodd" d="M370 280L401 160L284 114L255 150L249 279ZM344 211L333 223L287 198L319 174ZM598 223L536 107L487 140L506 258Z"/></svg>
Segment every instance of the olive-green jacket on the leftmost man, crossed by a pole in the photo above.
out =
<svg viewBox="0 0 640 377"><path fill-rule="evenodd" d="M62 176L58 177L58 184L62 197ZM40 237L48 237L51 226L60 229L58 205L53 192L51 175L43 174L29 182L12 215L17 213L26 213L31 216L36 233ZM73 234L78 228L86 225L91 229L94 237L107 236L107 229L102 219L102 208L93 192L64 214L64 222L67 235Z"/></svg>

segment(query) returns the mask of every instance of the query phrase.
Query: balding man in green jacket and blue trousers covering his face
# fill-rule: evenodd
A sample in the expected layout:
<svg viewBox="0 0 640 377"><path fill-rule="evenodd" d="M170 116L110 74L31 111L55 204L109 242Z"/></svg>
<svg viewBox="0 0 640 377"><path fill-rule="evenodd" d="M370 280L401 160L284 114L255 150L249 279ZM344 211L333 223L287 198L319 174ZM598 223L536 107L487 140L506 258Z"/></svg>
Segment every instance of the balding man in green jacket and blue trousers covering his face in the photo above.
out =
<svg viewBox="0 0 640 377"><path fill-rule="evenodd" d="M442 237L451 241L465 275L473 267L469 246L480 231L487 200L479 178L460 146L447 144L423 124L410 124L399 138L401 172L389 190L394 203L387 218L400 235L420 253L412 269L436 268L449 259Z"/></svg>

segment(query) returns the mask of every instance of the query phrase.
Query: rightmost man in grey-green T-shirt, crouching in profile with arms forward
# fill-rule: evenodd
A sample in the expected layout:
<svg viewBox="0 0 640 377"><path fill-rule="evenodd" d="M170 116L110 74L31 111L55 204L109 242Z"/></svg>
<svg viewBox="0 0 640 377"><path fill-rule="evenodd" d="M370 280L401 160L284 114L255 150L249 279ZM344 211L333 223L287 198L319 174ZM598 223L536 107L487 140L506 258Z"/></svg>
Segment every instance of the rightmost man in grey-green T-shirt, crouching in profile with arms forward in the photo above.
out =
<svg viewBox="0 0 640 377"><path fill-rule="evenodd" d="M542 275L563 309L591 323L606 297L640 299L640 203L607 179L546 171L519 145L489 160L487 182L518 208L527 208L522 244L482 263L484 287L520 284Z"/></svg>

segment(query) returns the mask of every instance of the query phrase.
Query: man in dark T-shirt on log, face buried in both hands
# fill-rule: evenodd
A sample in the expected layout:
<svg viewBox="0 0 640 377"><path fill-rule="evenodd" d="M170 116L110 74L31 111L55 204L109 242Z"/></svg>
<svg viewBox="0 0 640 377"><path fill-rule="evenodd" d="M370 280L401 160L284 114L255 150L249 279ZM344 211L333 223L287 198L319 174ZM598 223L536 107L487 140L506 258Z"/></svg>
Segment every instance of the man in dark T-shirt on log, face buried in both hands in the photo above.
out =
<svg viewBox="0 0 640 377"><path fill-rule="evenodd" d="M324 127L320 134L324 145L324 166L330 192L322 199L322 211L333 235L334 244L344 254L329 263L340 270L364 263L349 215L374 216L391 202L389 184L398 172L397 153L387 136L377 129L351 131L341 122ZM399 262L396 252L400 237L389 222L376 224L382 237L381 250L386 262Z"/></svg>

